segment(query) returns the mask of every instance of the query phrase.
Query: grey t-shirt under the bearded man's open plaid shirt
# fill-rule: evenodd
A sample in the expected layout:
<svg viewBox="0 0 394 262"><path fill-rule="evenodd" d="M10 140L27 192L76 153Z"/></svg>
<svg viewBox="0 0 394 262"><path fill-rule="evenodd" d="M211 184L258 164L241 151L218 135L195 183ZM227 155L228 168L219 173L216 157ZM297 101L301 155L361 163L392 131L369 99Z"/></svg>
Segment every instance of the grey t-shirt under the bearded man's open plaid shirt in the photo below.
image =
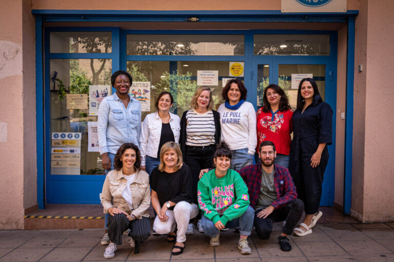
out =
<svg viewBox="0 0 394 262"><path fill-rule="evenodd" d="M266 208L278 199L277 189L275 189L275 184L273 183L274 173L275 169L273 169L272 173L267 173L262 168L260 194L254 210Z"/></svg>

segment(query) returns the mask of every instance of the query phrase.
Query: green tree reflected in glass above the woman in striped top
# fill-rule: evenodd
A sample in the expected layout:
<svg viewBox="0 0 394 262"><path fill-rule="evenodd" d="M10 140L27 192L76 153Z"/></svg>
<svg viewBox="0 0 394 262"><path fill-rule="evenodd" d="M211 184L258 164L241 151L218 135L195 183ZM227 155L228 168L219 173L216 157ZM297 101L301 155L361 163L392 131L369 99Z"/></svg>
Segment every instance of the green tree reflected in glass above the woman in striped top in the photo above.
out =
<svg viewBox="0 0 394 262"><path fill-rule="evenodd" d="M163 78L159 83L156 84L157 94L168 91L174 98L174 108L178 110L180 114L190 109L191 98L194 95L195 90L198 88L197 81L191 80L192 73L186 72L186 74L180 74L178 70L169 74L168 72L163 73ZM219 102L219 98L215 95L212 96L214 105ZM215 106L213 106L215 108Z"/></svg>

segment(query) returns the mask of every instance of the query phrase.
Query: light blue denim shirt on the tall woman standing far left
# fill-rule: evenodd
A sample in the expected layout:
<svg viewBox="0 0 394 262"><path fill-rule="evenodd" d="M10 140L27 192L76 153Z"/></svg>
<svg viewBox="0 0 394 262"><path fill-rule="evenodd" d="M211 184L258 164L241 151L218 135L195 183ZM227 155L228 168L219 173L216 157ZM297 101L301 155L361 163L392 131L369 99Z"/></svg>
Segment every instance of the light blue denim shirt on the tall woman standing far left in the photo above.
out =
<svg viewBox="0 0 394 262"><path fill-rule="evenodd" d="M99 135L100 154L116 154L124 143L139 146L141 135L141 104L129 94L127 109L122 100L114 93L104 98L99 107L97 134Z"/></svg>

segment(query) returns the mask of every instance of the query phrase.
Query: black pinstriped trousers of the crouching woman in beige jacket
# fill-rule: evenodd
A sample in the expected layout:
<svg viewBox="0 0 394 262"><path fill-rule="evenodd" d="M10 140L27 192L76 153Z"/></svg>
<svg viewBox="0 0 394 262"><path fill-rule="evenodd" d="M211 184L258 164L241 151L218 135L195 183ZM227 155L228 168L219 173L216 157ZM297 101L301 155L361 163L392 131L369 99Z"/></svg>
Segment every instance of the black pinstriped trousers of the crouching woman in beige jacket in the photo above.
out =
<svg viewBox="0 0 394 262"><path fill-rule="evenodd" d="M122 234L130 229L129 236L134 239L134 254L140 252L140 245L150 236L150 220L149 217L142 217L129 221L125 214L110 215L108 218L108 236L112 243L122 245Z"/></svg>

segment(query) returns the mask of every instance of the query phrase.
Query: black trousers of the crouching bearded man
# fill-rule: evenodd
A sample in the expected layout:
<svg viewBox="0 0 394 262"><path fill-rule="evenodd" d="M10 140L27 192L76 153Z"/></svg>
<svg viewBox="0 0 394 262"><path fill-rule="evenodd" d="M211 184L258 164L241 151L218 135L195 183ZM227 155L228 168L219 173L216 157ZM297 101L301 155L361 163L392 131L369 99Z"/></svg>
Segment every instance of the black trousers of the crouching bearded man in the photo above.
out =
<svg viewBox="0 0 394 262"><path fill-rule="evenodd" d="M262 239L268 239L272 232L273 222L285 221L282 232L291 235L295 226L301 219L302 213L304 211L304 203L300 199L294 199L287 203L286 206L275 209L273 212L267 216L265 219L263 217L257 217L257 214L262 209L254 211L254 227L256 233Z"/></svg>

